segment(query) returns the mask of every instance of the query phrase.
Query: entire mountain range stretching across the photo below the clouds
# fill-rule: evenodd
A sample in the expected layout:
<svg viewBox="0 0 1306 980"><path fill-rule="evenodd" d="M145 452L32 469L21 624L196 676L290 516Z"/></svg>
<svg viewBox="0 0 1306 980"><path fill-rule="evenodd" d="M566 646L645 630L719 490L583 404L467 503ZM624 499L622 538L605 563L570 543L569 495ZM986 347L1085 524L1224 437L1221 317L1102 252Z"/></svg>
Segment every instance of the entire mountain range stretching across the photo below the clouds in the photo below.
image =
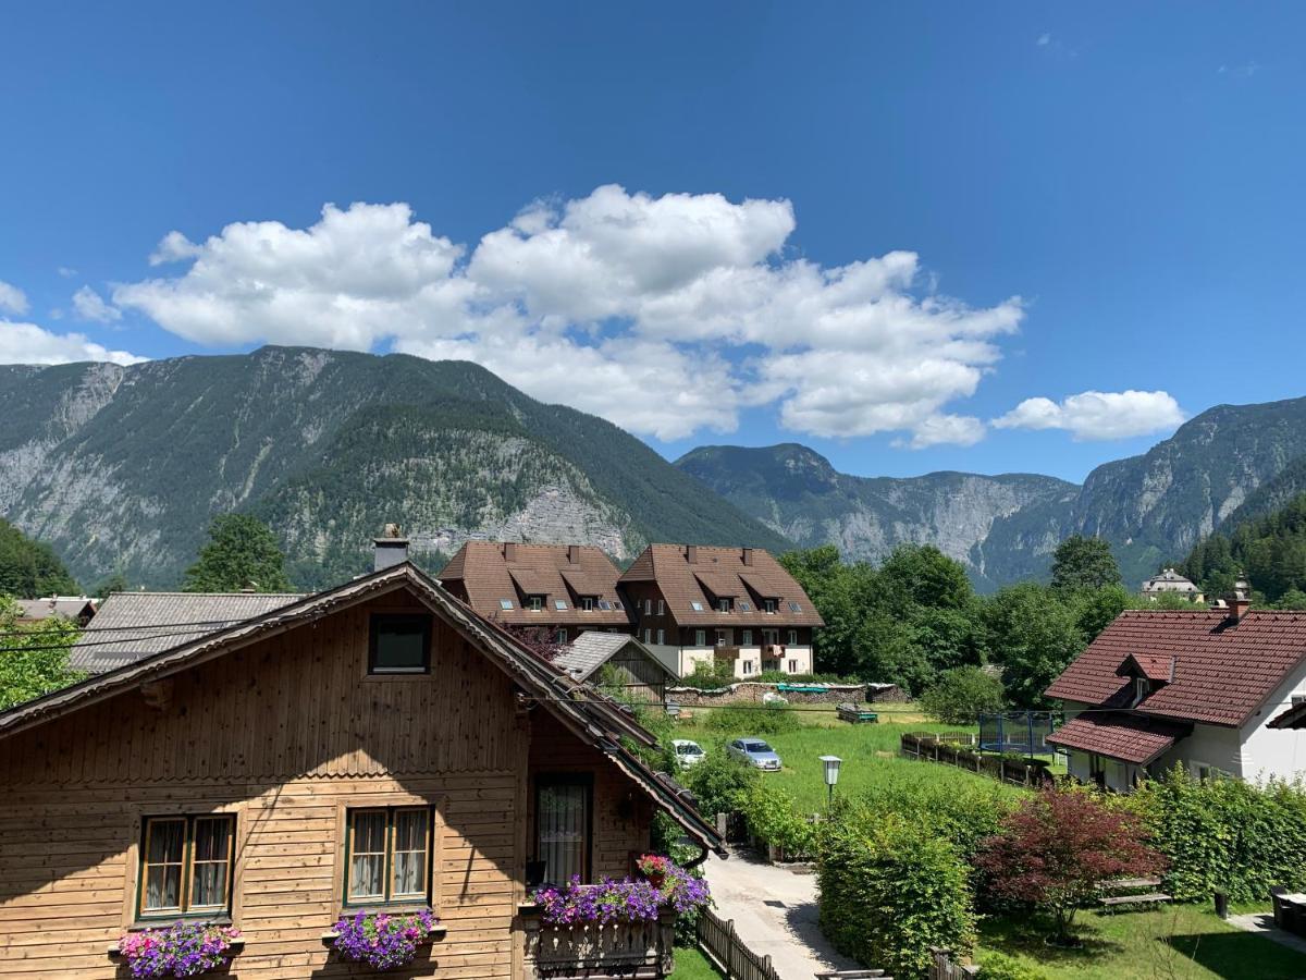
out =
<svg viewBox="0 0 1306 980"><path fill-rule="evenodd" d="M616 426L466 362L312 348L129 367L0 366L0 516L91 584L175 587L213 515L279 537L298 587L367 566L398 521L430 566L473 538L838 545L878 561L932 544L977 587L1042 576L1070 533L1111 542L1130 583L1232 519L1306 489L1306 399L1222 405L1083 485L1012 473L857 477L798 444L707 446L674 465Z"/></svg>

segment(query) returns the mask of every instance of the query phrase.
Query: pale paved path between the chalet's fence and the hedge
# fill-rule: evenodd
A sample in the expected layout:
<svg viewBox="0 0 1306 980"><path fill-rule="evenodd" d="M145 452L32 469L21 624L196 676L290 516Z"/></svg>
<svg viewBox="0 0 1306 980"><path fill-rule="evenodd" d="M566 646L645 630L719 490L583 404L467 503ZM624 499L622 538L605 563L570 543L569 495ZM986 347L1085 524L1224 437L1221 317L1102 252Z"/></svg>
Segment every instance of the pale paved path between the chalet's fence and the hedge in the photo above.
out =
<svg viewBox="0 0 1306 980"><path fill-rule="evenodd" d="M794 874L750 852L729 861L713 855L703 866L716 912L733 919L748 947L771 955L781 980L812 980L818 970L855 970L816 928L816 875Z"/></svg>

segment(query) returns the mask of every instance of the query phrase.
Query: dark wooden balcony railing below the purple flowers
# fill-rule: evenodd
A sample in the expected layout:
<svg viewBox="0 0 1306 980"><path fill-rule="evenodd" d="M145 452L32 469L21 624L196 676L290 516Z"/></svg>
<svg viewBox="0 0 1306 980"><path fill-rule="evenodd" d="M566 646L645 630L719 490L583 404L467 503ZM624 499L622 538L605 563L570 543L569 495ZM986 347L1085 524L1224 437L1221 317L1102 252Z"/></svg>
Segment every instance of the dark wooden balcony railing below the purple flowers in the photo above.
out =
<svg viewBox="0 0 1306 980"><path fill-rule="evenodd" d="M537 980L663 980L674 968L675 912L656 923L549 925L522 907L526 976Z"/></svg>

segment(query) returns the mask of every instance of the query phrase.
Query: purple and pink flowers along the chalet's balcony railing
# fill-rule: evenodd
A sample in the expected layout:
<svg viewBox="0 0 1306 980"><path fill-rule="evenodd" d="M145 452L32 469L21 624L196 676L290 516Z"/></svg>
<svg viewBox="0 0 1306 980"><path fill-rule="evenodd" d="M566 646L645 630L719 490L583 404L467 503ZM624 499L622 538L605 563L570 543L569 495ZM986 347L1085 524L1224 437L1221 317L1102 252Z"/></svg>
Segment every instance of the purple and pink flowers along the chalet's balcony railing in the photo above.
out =
<svg viewBox="0 0 1306 980"><path fill-rule="evenodd" d="M653 875L645 870L646 861L649 869L660 874L660 883L654 885ZM598 885L581 885L580 875L573 875L560 889L537 889L533 898L541 907L541 919L549 925L649 923L663 911L679 915L708 904L708 883L667 858L645 855L637 866L646 879L603 878Z"/></svg>

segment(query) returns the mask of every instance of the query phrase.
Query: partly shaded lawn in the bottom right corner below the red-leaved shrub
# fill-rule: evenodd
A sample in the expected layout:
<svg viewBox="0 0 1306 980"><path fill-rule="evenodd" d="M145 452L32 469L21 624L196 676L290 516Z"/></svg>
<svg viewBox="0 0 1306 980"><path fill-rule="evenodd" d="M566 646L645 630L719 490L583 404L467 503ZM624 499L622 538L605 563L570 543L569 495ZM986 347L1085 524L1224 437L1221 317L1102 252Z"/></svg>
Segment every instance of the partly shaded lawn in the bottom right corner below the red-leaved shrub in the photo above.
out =
<svg viewBox="0 0 1306 980"><path fill-rule="evenodd" d="M983 954L1000 950L1047 980L1298 980L1306 955L1220 921L1195 906L1145 912L1081 912L1084 946L1059 950L1027 925L989 920Z"/></svg>

